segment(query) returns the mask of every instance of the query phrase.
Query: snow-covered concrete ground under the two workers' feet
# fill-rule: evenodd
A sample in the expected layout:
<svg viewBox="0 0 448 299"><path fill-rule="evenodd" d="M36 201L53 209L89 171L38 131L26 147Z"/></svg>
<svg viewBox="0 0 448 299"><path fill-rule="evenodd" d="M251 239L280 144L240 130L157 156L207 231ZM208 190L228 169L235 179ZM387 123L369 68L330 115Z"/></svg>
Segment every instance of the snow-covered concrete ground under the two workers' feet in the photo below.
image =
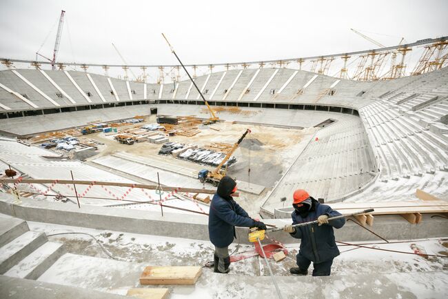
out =
<svg viewBox="0 0 448 299"><path fill-rule="evenodd" d="M210 242L154 236L150 231L141 235L39 222L28 224L32 231L48 235L88 233L116 258L109 258L88 235L50 236L52 242L63 242L68 253L39 278L45 282L125 294L130 287L142 287L138 278L147 265L203 266L213 258L214 247ZM418 244L427 254L448 256L448 239L389 242L365 246L412 253L411 244ZM361 295L364 298L445 298L448 291L448 258L423 258L338 244L341 254L334 260L332 276L296 277L289 274L289 268L296 266L298 246L289 244L289 253L282 262L269 260L284 298L336 299ZM230 251L235 255L252 253L254 247L232 244ZM171 298L276 298L265 262L259 256L234 262L230 268L228 275L203 268L195 286L170 286Z"/></svg>

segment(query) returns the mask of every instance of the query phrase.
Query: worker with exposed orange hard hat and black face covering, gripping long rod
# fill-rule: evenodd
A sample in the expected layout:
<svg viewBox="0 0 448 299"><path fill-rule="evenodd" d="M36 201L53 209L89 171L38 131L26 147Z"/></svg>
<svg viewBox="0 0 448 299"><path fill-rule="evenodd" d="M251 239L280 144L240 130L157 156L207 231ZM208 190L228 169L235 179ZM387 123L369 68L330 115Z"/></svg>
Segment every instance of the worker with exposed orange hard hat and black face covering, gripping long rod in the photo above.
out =
<svg viewBox="0 0 448 299"><path fill-rule="evenodd" d="M283 231L292 237L301 239L301 247L296 255L298 267L289 269L292 274L307 275L313 262L313 276L329 276L333 259L340 254L334 241L333 227L340 229L345 219L328 220L341 215L326 204L319 204L307 191L294 191L292 206L292 225L317 220L318 224L294 227L285 225Z"/></svg>

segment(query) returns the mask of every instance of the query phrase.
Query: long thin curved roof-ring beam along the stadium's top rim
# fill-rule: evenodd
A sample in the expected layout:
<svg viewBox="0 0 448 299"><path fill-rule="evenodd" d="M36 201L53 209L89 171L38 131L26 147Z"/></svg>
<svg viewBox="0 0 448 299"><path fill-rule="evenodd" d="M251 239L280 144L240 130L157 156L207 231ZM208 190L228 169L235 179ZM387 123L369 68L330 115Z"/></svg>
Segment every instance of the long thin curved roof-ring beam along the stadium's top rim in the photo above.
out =
<svg viewBox="0 0 448 299"><path fill-rule="evenodd" d="M408 47L414 47L414 46L420 46L420 45L426 45L426 44L433 44L437 41L445 41L448 39L448 36L444 37L438 37L436 39L422 39L419 41L415 41L414 43L405 44L405 45L397 45L397 46L391 46L386 48L376 48L376 49L369 49L369 50L362 50L362 51L355 51L355 52L345 52L345 53L338 53L338 54L329 54L329 55L318 55L318 56L310 56L310 57L296 57L296 58L288 58L288 59L275 59L275 60L262 60L262 61L235 61L235 62L229 62L229 63L218 63L218 64L185 64L185 66L236 66L241 64L259 64L261 62L264 62L265 64L269 63L275 63L278 61L297 61L297 60L312 60L312 59L318 59L318 58L328 58L328 57L342 57L345 55L360 55L360 54L366 54L369 52L383 52L387 50L395 50L398 48L408 48ZM37 62L39 64L51 64L50 61L32 61L32 60L24 60L24 59L8 59L1 57L0 61L10 61L10 62L19 62L19 63L31 63L31 62ZM119 67L122 68L123 64L83 64L83 63L77 63L77 62L58 62L58 64L63 64L65 66L109 66L109 67ZM159 67L176 67L178 65L176 64L132 64L128 65L129 68L141 68L145 66L146 68L159 68Z"/></svg>

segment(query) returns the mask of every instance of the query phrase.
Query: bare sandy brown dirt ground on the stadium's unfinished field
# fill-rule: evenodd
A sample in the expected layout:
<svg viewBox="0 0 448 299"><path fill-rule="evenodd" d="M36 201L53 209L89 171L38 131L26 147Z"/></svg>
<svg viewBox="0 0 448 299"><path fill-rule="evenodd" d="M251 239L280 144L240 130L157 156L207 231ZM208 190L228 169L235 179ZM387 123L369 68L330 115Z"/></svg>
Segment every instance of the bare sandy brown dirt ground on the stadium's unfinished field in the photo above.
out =
<svg viewBox="0 0 448 299"><path fill-rule="evenodd" d="M152 115L145 119L145 122L138 124L151 124L156 122L156 116ZM132 128L136 126L123 126L123 128ZM201 133L193 137L174 136L170 137L170 142L179 142L184 144L197 144L205 146L212 142L223 142L234 144L243 135L247 128L251 133L247 134L243 140L242 146L236 149L234 156L237 159L236 164L228 169L228 174L237 180L243 180L253 184L272 188L283 172L289 167L303 145L301 142L307 139L316 131L315 128L305 128L298 130L295 128L276 128L272 126L259 126L247 124L232 124L232 122L219 122L210 126L199 126ZM83 137L81 137L83 138ZM180 161L169 156L159 156L158 152L161 144L151 144L150 142L141 142L133 145L119 144L112 137L105 136L103 133L86 135L85 138L95 139L104 145L99 145L99 154L112 155L119 151L125 151L132 155L140 157L155 157L156 159L173 160L172 162L187 164L190 167L201 168L199 164L190 161ZM249 172L250 169L250 172Z"/></svg>

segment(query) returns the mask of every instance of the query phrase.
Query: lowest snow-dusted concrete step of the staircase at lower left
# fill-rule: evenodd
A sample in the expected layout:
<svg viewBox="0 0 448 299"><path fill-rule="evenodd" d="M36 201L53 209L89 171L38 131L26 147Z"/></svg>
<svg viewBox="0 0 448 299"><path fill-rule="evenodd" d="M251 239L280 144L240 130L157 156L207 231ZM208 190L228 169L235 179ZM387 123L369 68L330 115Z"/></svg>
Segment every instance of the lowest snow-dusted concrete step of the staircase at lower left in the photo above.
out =
<svg viewBox="0 0 448 299"><path fill-rule="evenodd" d="M9 269L5 275L36 280L65 253L63 244L46 242Z"/></svg>

